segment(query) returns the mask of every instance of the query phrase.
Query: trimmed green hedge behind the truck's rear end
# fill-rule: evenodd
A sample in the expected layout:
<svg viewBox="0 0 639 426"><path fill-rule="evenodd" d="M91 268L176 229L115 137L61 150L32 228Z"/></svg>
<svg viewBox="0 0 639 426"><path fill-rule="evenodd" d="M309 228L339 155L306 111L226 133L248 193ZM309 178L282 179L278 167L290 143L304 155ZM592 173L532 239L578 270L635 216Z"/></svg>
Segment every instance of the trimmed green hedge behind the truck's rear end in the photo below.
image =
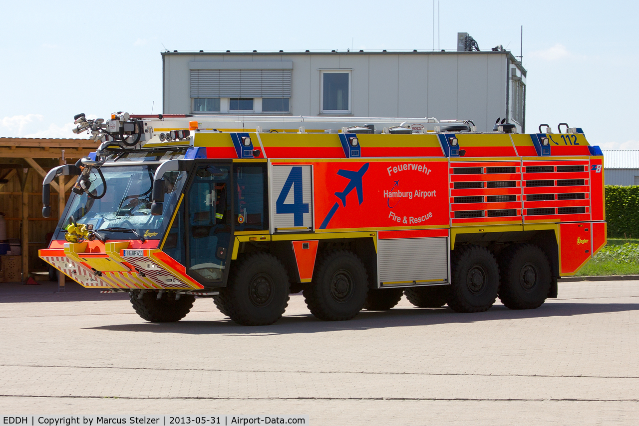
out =
<svg viewBox="0 0 639 426"><path fill-rule="evenodd" d="M605 188L608 237L639 237L639 186L606 185Z"/></svg>

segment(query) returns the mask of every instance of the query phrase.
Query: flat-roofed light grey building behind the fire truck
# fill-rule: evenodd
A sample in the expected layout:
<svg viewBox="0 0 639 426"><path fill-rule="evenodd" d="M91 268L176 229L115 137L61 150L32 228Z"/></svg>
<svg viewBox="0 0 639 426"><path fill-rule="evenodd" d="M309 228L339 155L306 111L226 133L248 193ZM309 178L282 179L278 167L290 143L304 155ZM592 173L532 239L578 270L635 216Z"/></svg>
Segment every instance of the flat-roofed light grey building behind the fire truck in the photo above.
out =
<svg viewBox="0 0 639 426"><path fill-rule="evenodd" d="M436 117L525 129L511 52L162 52L164 114Z"/></svg>

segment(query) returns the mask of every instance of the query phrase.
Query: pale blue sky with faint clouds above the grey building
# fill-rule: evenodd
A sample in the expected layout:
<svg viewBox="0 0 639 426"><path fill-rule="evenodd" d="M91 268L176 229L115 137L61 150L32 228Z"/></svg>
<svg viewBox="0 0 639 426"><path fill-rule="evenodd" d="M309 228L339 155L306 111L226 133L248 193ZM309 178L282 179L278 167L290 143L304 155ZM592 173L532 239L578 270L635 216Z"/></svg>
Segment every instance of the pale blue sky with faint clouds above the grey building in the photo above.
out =
<svg viewBox="0 0 639 426"><path fill-rule="evenodd" d="M523 26L527 131L566 122L591 145L639 149L638 134L617 129L635 130L639 115L635 1L436 0L434 28L432 0L24 0L2 10L0 137L72 138L77 113L161 113L164 49L456 50L466 32L481 50L519 56Z"/></svg>

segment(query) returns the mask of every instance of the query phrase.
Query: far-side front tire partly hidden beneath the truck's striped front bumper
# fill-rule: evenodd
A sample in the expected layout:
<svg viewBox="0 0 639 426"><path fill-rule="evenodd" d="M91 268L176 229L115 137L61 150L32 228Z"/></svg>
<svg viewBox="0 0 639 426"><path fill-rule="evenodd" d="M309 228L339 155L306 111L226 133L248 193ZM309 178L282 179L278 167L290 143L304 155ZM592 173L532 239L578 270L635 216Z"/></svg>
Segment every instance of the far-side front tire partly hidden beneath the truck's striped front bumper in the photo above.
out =
<svg viewBox="0 0 639 426"><path fill-rule="evenodd" d="M160 300L158 292L147 291L139 298L139 290L129 292L129 300L137 315L149 322L176 322L183 319L193 307L195 296L181 294L175 299L174 292L164 292Z"/></svg>

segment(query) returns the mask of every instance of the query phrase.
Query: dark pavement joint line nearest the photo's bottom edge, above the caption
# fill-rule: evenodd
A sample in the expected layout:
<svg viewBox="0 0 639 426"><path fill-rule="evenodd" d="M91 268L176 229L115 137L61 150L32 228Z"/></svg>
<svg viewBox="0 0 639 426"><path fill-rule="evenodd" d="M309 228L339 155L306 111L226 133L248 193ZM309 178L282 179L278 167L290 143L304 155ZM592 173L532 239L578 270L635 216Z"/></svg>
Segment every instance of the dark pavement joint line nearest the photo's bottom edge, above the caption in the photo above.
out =
<svg viewBox="0 0 639 426"><path fill-rule="evenodd" d="M86 398L86 399L158 399L158 400L325 400L325 401L475 401L475 402L639 402L639 399L592 399L592 398L397 398L397 397L296 397L296 398L234 398L234 397L95 397L82 395L3 395L0 397L19 397L19 398Z"/></svg>

